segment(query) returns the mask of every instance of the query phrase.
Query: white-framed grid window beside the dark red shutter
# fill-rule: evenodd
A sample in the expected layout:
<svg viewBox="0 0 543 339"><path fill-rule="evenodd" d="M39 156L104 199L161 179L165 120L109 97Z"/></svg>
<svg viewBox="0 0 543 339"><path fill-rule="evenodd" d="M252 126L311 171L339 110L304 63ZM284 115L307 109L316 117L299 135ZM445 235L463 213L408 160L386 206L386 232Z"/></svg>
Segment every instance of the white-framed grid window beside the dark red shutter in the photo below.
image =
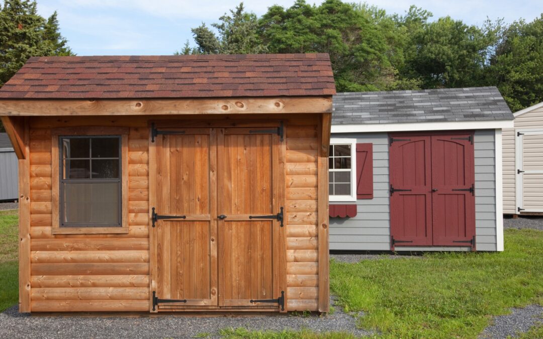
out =
<svg viewBox="0 0 543 339"><path fill-rule="evenodd" d="M356 139L330 139L328 169L330 201L356 201Z"/></svg>

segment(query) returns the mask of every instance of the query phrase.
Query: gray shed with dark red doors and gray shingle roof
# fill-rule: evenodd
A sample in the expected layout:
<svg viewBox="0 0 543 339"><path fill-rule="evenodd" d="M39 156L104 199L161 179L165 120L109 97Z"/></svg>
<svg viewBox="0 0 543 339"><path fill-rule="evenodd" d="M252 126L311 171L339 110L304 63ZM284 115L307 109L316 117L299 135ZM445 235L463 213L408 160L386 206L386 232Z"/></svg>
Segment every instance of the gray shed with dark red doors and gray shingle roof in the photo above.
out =
<svg viewBox="0 0 543 339"><path fill-rule="evenodd" d="M502 129L513 114L497 88L333 100L332 251L503 251Z"/></svg>

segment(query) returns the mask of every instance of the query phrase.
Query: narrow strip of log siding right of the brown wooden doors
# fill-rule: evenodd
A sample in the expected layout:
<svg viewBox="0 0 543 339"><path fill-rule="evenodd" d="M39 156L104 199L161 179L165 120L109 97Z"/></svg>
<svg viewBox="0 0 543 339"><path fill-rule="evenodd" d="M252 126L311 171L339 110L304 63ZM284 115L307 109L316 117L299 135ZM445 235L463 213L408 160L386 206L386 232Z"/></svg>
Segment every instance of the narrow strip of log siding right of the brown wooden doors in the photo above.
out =
<svg viewBox="0 0 543 339"><path fill-rule="evenodd" d="M287 310L318 310L317 126L288 125Z"/></svg>

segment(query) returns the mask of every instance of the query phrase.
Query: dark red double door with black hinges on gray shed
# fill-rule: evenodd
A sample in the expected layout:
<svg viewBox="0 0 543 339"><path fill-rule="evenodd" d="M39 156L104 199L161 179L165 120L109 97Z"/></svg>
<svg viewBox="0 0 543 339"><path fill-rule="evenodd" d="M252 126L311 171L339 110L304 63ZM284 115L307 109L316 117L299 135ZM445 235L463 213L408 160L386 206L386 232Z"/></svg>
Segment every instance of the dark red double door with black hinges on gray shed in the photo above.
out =
<svg viewBox="0 0 543 339"><path fill-rule="evenodd" d="M391 245L475 249L473 135L390 136Z"/></svg>

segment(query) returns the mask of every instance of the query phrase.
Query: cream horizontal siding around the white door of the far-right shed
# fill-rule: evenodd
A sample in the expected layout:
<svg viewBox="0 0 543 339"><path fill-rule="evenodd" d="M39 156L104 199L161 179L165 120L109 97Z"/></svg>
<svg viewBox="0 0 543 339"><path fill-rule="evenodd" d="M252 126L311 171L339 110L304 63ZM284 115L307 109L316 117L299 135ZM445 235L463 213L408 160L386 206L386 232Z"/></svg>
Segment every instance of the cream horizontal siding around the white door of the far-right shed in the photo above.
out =
<svg viewBox="0 0 543 339"><path fill-rule="evenodd" d="M543 128L543 106L515 117L514 129L504 129L503 140L503 213L515 214L515 134L516 130ZM543 144L541 145L543 148ZM543 194L540 199L543 201Z"/></svg>

